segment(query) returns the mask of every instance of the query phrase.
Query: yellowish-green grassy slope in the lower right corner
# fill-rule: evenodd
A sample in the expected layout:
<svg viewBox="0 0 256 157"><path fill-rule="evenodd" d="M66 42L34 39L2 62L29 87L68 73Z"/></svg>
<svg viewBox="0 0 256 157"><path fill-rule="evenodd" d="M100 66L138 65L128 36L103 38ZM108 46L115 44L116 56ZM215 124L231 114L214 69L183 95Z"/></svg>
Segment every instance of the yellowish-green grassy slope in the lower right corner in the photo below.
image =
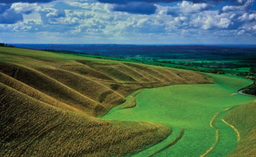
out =
<svg viewBox="0 0 256 157"><path fill-rule="evenodd" d="M224 119L239 132L239 145L230 156L256 156L256 100L226 113Z"/></svg>

